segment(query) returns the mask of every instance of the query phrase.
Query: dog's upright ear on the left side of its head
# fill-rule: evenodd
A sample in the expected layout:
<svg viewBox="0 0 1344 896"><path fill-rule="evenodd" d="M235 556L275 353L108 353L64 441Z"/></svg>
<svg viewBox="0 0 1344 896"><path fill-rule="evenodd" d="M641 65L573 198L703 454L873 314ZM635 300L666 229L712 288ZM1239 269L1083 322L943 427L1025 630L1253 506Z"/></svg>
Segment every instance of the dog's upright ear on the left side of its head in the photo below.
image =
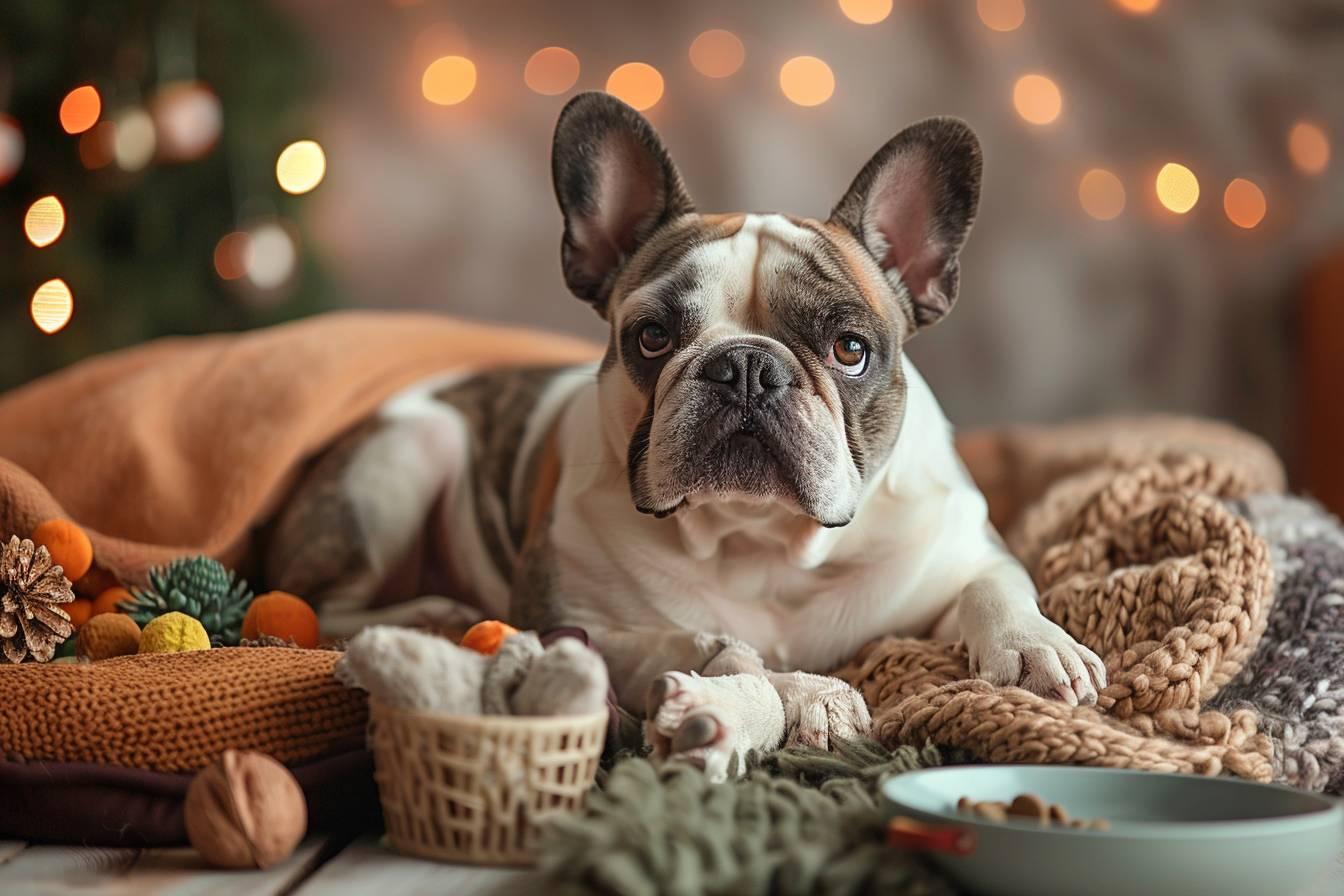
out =
<svg viewBox="0 0 1344 896"><path fill-rule="evenodd" d="M605 93L564 106L551 175L564 214L564 281L605 316L621 266L649 234L695 206L653 126Z"/></svg>

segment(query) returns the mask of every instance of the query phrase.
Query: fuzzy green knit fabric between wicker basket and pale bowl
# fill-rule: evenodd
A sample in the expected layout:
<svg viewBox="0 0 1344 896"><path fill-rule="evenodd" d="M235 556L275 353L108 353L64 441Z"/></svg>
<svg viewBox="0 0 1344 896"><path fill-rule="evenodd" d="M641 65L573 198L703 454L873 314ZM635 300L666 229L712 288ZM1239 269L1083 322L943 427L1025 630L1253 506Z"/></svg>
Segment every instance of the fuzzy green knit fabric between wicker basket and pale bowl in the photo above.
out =
<svg viewBox="0 0 1344 896"><path fill-rule="evenodd" d="M934 747L805 747L753 758L746 776L646 759L617 762L582 813L548 827L546 892L613 896L952 893L919 858L883 844L878 783L943 764Z"/></svg>

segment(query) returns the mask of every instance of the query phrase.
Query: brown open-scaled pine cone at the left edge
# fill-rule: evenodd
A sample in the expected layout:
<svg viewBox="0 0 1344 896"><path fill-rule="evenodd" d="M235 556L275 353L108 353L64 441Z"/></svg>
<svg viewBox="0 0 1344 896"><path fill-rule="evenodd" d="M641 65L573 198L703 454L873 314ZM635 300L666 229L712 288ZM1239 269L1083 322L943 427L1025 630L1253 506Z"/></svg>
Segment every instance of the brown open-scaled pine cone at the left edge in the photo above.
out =
<svg viewBox="0 0 1344 896"><path fill-rule="evenodd" d="M70 603L65 570L51 563L51 553L28 539L11 536L0 549L0 656L23 662L32 656L47 662L75 627L59 604Z"/></svg>

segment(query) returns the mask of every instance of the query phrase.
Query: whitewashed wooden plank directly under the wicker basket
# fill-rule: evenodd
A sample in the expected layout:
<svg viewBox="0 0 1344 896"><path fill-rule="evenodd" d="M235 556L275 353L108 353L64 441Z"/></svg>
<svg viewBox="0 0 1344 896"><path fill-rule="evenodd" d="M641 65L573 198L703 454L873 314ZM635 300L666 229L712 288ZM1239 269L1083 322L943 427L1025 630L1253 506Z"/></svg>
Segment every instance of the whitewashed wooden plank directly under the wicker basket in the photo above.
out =
<svg viewBox="0 0 1344 896"><path fill-rule="evenodd" d="M530 868L448 865L399 856L376 836L360 837L317 869L296 896L442 896L442 893L536 893L540 876Z"/></svg>

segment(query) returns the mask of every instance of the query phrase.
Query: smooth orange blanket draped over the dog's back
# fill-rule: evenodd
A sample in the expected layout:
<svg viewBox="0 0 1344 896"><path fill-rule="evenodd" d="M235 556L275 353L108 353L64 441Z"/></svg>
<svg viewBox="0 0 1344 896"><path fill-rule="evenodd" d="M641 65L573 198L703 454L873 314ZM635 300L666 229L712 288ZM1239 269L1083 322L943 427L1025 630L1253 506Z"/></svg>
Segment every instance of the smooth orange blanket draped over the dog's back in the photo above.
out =
<svg viewBox="0 0 1344 896"><path fill-rule="evenodd" d="M75 520L94 544L86 592L185 553L235 566L300 465L402 387L598 352L448 317L349 312L94 357L0 395L0 536Z"/></svg>

